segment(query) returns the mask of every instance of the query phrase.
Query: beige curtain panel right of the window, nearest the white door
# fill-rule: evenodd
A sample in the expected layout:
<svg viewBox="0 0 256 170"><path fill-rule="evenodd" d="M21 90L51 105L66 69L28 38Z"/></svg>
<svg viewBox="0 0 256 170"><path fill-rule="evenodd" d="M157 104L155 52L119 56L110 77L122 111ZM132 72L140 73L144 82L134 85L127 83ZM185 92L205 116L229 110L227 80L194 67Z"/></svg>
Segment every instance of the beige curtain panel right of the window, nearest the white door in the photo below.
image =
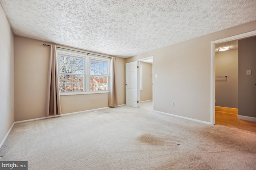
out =
<svg viewBox="0 0 256 170"><path fill-rule="evenodd" d="M110 81L109 81L109 99L108 106L117 106L117 90L116 90L116 79L115 79L115 63L116 58L112 57L110 61Z"/></svg>

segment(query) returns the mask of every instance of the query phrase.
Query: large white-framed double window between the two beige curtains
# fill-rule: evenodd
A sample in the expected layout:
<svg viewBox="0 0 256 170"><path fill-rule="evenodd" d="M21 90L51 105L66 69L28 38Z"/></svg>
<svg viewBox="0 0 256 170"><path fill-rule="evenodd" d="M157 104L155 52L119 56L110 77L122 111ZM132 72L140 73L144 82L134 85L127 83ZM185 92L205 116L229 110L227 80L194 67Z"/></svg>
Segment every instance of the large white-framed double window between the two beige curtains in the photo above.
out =
<svg viewBox="0 0 256 170"><path fill-rule="evenodd" d="M108 92L109 59L58 51L60 94Z"/></svg>

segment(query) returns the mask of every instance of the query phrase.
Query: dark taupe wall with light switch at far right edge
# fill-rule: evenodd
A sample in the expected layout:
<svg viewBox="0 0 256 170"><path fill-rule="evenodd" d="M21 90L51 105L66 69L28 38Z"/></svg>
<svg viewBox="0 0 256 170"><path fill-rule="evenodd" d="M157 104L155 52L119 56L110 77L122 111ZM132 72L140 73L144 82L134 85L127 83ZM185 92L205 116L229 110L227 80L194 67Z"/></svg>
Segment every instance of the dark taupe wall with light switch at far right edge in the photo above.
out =
<svg viewBox="0 0 256 170"><path fill-rule="evenodd" d="M238 115L256 117L256 37L238 40L238 80Z"/></svg>

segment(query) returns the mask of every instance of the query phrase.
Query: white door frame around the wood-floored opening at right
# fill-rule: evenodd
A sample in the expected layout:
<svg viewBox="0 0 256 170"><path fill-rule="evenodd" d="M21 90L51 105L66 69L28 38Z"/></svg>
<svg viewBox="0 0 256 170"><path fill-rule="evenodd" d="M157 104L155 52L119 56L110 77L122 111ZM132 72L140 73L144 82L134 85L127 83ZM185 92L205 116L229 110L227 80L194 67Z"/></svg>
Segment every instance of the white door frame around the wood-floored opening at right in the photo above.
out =
<svg viewBox="0 0 256 170"><path fill-rule="evenodd" d="M215 125L215 44L216 43L224 43L226 41L232 41L236 39L242 39L246 37L252 37L256 35L256 30L255 31L250 31L247 33L242 33L238 35L234 35L231 37L226 37L223 39L218 39L215 41L211 41L211 90L210 90L210 117L211 117L211 124Z"/></svg>

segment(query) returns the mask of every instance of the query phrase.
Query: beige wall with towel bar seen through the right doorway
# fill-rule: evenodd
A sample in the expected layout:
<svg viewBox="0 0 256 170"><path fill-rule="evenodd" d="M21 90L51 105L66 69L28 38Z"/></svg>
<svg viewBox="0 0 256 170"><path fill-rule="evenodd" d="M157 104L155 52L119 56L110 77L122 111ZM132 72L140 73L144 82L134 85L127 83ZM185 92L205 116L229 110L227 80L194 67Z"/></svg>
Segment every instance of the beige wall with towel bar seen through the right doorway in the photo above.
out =
<svg viewBox="0 0 256 170"><path fill-rule="evenodd" d="M238 49L215 53L215 106L238 108Z"/></svg>

